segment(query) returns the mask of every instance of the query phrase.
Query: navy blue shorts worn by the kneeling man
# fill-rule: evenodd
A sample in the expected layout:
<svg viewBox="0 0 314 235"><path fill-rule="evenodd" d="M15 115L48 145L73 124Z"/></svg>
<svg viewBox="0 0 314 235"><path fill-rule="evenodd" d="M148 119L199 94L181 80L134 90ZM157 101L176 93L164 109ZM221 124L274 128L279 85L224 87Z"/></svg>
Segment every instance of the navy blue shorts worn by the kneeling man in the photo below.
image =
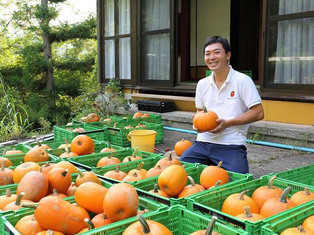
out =
<svg viewBox="0 0 314 235"><path fill-rule="evenodd" d="M217 165L223 161L222 168L226 170L241 174L249 173L246 147L243 144L225 145L194 141L193 145L183 152L179 160L205 165Z"/></svg>

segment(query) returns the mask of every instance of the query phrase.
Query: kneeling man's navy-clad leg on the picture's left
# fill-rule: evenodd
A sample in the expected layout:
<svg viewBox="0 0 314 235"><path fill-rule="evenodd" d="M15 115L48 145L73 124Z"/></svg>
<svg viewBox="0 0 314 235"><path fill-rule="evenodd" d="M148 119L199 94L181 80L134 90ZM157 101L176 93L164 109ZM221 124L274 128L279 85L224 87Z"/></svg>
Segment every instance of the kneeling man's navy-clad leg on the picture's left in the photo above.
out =
<svg viewBox="0 0 314 235"><path fill-rule="evenodd" d="M193 145L186 149L180 157L180 161L187 163L200 163L212 165L209 160L208 142L194 141Z"/></svg>

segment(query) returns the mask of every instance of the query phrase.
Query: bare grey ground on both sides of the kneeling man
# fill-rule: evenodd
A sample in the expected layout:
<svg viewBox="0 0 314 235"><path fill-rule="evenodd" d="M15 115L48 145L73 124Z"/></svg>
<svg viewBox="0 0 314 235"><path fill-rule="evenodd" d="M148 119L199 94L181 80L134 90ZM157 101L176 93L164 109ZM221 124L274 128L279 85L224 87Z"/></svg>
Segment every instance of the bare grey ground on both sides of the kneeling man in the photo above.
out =
<svg viewBox="0 0 314 235"><path fill-rule="evenodd" d="M196 135L177 131L164 130L164 142L156 147L163 150L170 147L174 150L174 145L182 139L191 142L196 140ZM314 153L274 148L257 144L247 144L247 158L249 170L254 179L258 179L269 173L282 172L308 164L314 164Z"/></svg>

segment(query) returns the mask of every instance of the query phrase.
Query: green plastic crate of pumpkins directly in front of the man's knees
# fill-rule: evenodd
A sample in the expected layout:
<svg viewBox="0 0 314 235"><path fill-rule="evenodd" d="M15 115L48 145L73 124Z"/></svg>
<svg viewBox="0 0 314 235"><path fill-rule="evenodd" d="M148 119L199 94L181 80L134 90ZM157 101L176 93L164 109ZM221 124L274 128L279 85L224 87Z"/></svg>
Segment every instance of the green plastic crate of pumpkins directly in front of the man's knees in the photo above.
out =
<svg viewBox="0 0 314 235"><path fill-rule="evenodd" d="M186 168L186 173L188 176L191 176L195 182L195 184L200 184L200 175L202 171L207 167L207 165L196 165L196 167L193 168ZM252 174L239 174L231 171L227 171L229 174L230 179L232 180L230 183L224 184L222 186L207 189L206 192L213 192L213 191L219 191L223 188L231 187L238 185L240 183L248 182L253 179ZM187 202L187 199L189 197L185 198L166 198L159 195L156 195L154 193L149 192L150 190L154 189L154 185L158 184L158 176L152 177L149 179L138 181L136 184L133 184L133 186L138 189L138 194L142 197L149 198L151 200L163 203L168 206L174 206L174 205L185 205ZM190 181L187 180L186 185L190 185ZM194 195L198 195L199 193L196 193Z"/></svg>

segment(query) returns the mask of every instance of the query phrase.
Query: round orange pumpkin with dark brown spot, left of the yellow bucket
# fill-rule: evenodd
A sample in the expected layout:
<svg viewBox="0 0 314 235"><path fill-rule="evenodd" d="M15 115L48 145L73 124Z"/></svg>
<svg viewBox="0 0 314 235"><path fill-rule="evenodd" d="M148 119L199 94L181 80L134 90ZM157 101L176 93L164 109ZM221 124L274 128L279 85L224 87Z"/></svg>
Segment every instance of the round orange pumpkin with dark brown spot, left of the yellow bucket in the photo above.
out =
<svg viewBox="0 0 314 235"><path fill-rule="evenodd" d="M78 155L91 154L94 149L94 141L86 135L78 135L71 142L71 151Z"/></svg>

